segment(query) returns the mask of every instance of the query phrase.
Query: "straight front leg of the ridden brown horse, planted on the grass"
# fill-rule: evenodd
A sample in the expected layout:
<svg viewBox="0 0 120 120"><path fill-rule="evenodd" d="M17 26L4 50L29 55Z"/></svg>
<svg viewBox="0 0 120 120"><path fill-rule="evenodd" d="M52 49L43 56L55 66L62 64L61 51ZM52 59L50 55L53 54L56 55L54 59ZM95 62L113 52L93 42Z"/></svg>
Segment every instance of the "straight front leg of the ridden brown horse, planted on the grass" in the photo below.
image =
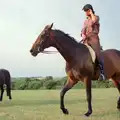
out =
<svg viewBox="0 0 120 120"><path fill-rule="evenodd" d="M91 79L85 78L84 79L86 85L86 95L87 95L87 102L88 102L88 111L84 114L85 116L89 117L92 114L92 94L91 94Z"/></svg>

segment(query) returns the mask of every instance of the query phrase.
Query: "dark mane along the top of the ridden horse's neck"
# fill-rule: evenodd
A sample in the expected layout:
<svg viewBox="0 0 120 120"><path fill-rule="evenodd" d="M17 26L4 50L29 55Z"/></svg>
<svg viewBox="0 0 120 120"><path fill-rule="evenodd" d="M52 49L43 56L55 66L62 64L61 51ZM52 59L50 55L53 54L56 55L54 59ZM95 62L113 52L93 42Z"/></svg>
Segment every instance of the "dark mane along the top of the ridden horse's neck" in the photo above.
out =
<svg viewBox="0 0 120 120"><path fill-rule="evenodd" d="M75 38L71 37L69 34L63 32L62 30L54 29L53 31L55 31L57 33L57 35L59 35L61 37L64 36L66 38L65 40L69 40L74 44L78 43ZM61 40L63 40L63 39L61 39Z"/></svg>

